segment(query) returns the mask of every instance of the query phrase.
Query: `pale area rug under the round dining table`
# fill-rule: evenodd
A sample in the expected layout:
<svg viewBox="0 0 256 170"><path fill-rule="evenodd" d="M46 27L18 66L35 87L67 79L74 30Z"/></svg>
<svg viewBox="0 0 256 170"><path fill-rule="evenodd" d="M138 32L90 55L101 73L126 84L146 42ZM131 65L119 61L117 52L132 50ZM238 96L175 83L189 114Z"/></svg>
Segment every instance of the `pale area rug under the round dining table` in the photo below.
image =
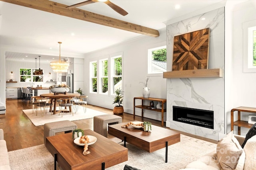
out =
<svg viewBox="0 0 256 170"><path fill-rule="evenodd" d="M75 121L75 120L82 120L82 119L90 119L90 118L93 118L94 116L107 114L107 113L103 113L101 111L97 111L89 108L87 108L86 112L84 113L84 109L82 108L82 106L79 106L79 109L76 113L74 113L74 116L72 116L72 114L70 113L64 113L63 117L61 117L61 115L59 114L51 115L50 112L48 112L47 114L44 114L44 117L42 117L40 109L38 110L37 115L36 113L32 113L32 109L25 109L22 111L28 116L30 121L35 126L44 125L44 123L50 123L54 121L62 121L62 120Z"/></svg>

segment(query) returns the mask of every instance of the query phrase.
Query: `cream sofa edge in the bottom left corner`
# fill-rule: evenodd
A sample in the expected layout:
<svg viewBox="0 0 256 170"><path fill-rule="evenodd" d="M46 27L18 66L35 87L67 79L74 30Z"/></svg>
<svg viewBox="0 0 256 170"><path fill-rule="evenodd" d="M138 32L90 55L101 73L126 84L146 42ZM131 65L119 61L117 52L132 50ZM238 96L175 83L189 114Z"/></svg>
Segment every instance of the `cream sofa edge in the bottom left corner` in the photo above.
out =
<svg viewBox="0 0 256 170"><path fill-rule="evenodd" d="M10 162L6 141L4 140L4 131L0 129L0 170L10 170Z"/></svg>

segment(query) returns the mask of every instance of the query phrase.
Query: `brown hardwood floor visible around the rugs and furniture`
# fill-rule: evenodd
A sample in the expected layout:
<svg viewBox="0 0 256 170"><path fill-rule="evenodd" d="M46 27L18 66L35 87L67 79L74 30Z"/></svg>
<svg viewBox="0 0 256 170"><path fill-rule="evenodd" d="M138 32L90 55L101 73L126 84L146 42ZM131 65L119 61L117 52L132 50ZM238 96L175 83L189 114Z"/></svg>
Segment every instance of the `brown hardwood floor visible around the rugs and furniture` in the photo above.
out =
<svg viewBox="0 0 256 170"><path fill-rule="evenodd" d="M88 105L88 108L113 114L113 110L111 109L92 105ZM0 129L4 130L4 139L6 140L8 151L44 144L44 126L34 126L30 119L23 113L22 109L32 109L32 106L23 103L21 100L6 100L6 114L0 115ZM124 113L120 116L123 122L133 121L132 114ZM136 116L135 119L138 121L150 121L153 125L161 126L161 121L148 118L142 120L140 116ZM73 122L76 123L79 129L93 130L93 119L83 119ZM184 132L180 133L212 143L218 143L218 141L198 137L196 135Z"/></svg>

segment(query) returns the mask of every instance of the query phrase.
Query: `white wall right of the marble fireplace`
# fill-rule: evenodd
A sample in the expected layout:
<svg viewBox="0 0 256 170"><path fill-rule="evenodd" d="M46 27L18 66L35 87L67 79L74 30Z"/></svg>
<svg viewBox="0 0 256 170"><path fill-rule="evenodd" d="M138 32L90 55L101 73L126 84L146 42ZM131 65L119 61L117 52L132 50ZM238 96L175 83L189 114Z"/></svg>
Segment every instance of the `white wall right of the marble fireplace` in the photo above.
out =
<svg viewBox="0 0 256 170"><path fill-rule="evenodd" d="M230 71L232 72L230 84L225 81L226 88L230 88L230 94L225 95L225 113L226 113L226 132L230 131L230 110L239 106L256 107L256 72L243 72L243 29L242 23L256 20L256 1L248 1L234 6L231 12L232 29L232 51L226 53L225 57L231 59L226 61L232 62ZM225 31L227 32L227 31ZM225 41L228 41L226 38ZM225 47L225 51L226 51ZM225 76L227 77L226 73ZM226 79L226 78L225 78ZM242 113L242 120L247 121L250 113ZM234 128L237 131L237 128ZM246 135L248 129L241 128L241 135Z"/></svg>

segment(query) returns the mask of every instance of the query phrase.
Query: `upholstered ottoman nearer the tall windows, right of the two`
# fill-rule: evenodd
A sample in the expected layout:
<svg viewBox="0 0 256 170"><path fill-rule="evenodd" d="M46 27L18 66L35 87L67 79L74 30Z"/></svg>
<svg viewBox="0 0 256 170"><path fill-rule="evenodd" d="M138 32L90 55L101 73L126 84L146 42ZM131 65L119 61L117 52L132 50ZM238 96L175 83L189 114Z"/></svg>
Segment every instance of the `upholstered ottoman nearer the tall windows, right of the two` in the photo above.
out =
<svg viewBox="0 0 256 170"><path fill-rule="evenodd" d="M108 125L122 123L122 117L117 115L99 115L93 117L93 131L100 135L108 136Z"/></svg>

